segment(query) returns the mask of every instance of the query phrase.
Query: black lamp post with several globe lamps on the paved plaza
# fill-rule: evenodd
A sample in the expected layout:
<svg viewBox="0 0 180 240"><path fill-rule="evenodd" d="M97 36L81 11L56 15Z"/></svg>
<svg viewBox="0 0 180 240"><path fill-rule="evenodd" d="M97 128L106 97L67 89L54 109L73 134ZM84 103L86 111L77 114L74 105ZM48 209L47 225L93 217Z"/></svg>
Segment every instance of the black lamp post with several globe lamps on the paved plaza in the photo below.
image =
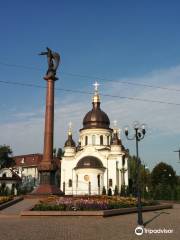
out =
<svg viewBox="0 0 180 240"><path fill-rule="evenodd" d="M137 157L137 179L136 179L136 188L137 188L137 211L138 211L138 225L143 225L143 216L142 216L142 204L141 204L141 187L140 187L140 167L141 160L139 159L139 148L138 143L141 141L145 134L146 129L145 125L140 125L138 122L133 124L134 135L129 137L129 130L125 128L125 136L128 140L136 141L136 157Z"/></svg>

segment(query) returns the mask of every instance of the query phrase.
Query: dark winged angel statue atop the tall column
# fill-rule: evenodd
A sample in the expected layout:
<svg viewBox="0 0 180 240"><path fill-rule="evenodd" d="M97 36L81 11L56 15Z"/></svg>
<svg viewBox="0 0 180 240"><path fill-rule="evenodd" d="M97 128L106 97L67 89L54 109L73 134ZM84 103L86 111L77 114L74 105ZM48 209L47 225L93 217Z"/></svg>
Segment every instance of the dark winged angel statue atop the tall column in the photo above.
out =
<svg viewBox="0 0 180 240"><path fill-rule="evenodd" d="M46 72L45 79L56 79L56 70L59 66L60 55L57 52L53 52L50 48L46 48L47 52L41 52L39 55L47 55L48 70Z"/></svg>

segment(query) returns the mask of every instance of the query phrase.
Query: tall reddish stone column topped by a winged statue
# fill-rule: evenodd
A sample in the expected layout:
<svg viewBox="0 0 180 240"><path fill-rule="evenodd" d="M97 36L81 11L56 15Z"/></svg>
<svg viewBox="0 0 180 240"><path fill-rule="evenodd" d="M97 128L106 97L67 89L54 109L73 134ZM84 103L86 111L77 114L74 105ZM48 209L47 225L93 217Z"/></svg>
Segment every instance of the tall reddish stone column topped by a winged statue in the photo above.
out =
<svg viewBox="0 0 180 240"><path fill-rule="evenodd" d="M54 138L54 85L56 78L56 69L59 64L60 56L47 48L47 52L40 55L47 55L48 71L44 79L47 81L46 89L46 112L44 129L44 151L43 159L38 166L40 174L40 185L33 194L37 195L61 195L62 192L55 185L55 172L58 167L53 159L53 138Z"/></svg>

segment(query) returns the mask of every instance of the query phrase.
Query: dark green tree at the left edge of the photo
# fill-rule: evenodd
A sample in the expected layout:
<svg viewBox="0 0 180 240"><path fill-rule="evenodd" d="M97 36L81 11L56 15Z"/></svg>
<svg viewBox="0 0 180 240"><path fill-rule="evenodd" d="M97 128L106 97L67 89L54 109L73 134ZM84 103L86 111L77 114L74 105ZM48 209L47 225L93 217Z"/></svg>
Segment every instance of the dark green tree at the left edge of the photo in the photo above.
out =
<svg viewBox="0 0 180 240"><path fill-rule="evenodd" d="M0 145L0 169L9 168L15 165L15 161L12 158L12 150L10 146Z"/></svg>

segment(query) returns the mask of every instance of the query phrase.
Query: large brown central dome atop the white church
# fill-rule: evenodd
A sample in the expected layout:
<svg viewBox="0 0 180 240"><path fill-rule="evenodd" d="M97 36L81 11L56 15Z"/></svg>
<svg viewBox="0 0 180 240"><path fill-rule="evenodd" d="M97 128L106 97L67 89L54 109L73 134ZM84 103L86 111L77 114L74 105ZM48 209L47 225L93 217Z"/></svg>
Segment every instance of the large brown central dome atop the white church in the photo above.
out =
<svg viewBox="0 0 180 240"><path fill-rule="evenodd" d="M93 102L93 108L83 119L83 129L109 128L110 121L105 112L100 108L100 102Z"/></svg>

